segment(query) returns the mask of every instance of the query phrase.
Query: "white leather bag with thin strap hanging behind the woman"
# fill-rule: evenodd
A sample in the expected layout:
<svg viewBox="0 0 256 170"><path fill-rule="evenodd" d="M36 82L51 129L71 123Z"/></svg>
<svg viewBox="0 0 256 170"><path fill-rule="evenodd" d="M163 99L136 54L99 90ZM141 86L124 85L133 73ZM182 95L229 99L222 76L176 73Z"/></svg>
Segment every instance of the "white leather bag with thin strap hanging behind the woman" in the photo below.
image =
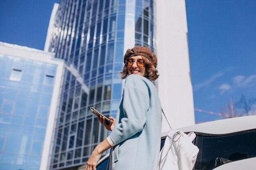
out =
<svg viewBox="0 0 256 170"><path fill-rule="evenodd" d="M171 128L160 151L157 170L192 170L199 152L198 147L192 143L194 139L194 132L186 135Z"/></svg>

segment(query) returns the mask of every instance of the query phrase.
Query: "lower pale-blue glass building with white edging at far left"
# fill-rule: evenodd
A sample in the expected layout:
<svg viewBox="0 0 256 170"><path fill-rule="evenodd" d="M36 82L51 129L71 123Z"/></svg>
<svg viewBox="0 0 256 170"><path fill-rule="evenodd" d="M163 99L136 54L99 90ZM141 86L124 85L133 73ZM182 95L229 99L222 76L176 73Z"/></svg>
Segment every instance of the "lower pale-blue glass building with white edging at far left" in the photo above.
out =
<svg viewBox="0 0 256 170"><path fill-rule="evenodd" d="M43 155L49 155L45 148L51 143L63 70L63 62L52 57L0 42L1 170L39 170Z"/></svg>

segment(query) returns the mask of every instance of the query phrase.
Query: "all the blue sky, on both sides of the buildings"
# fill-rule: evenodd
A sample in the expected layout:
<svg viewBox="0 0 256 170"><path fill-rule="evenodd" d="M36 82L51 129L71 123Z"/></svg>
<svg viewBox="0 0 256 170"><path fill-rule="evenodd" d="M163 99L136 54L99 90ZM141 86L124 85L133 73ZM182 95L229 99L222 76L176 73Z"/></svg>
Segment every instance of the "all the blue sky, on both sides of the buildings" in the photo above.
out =
<svg viewBox="0 0 256 170"><path fill-rule="evenodd" d="M0 41L43 50L54 2L0 0ZM186 0L196 109L223 113L230 99L256 97L255 9L256 0ZM195 111L196 122L222 118Z"/></svg>

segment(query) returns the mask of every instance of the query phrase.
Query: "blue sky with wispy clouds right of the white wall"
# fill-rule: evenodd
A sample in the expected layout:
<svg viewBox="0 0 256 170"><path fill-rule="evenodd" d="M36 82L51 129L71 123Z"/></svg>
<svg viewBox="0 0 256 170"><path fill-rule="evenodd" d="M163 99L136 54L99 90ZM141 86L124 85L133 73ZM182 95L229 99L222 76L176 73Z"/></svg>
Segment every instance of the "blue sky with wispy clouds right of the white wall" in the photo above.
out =
<svg viewBox="0 0 256 170"><path fill-rule="evenodd" d="M255 9L255 0L186 0L195 108L223 113L230 98L256 97ZM222 117L195 111L195 118Z"/></svg>

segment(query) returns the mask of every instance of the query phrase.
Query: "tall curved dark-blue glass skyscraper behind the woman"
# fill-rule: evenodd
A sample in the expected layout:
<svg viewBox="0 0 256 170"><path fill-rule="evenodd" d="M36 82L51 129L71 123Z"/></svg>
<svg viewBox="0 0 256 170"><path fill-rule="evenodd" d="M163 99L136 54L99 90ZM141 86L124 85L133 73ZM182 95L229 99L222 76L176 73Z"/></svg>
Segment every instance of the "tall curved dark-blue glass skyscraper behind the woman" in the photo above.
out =
<svg viewBox="0 0 256 170"><path fill-rule="evenodd" d="M115 117L124 52L135 45L154 51L153 0L61 0L47 51L67 65L50 169L85 164L108 136L90 106Z"/></svg>

